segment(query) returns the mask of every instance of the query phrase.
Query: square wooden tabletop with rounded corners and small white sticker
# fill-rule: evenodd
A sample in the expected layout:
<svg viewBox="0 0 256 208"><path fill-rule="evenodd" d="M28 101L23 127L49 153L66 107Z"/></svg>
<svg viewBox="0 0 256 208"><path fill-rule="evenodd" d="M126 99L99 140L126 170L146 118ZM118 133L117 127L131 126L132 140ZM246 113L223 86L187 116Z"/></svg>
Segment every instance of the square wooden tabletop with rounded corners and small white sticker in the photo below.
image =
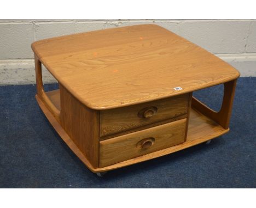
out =
<svg viewBox="0 0 256 208"><path fill-rule="evenodd" d="M164 99L240 75L210 52L157 25L40 40L32 49L59 83L92 109Z"/></svg>

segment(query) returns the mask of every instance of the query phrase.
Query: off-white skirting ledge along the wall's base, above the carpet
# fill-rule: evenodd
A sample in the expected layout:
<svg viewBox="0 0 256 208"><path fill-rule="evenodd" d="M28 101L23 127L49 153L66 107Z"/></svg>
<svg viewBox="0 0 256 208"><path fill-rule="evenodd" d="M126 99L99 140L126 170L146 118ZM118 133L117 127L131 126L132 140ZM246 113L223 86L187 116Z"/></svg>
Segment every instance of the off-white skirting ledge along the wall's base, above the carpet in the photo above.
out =
<svg viewBox="0 0 256 208"><path fill-rule="evenodd" d="M256 53L216 54L234 66L241 77L256 77ZM56 83L56 79L43 67L43 82ZM0 85L35 84L33 59L0 59Z"/></svg>

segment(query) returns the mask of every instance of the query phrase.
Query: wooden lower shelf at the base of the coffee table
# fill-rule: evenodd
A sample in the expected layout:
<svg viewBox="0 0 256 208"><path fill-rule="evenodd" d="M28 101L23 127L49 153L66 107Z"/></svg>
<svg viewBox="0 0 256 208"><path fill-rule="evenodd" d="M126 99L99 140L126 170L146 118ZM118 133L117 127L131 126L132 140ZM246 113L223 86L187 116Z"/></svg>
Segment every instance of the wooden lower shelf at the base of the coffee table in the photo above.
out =
<svg viewBox="0 0 256 208"><path fill-rule="evenodd" d="M60 108L59 90L54 90L46 94L49 96L49 99L55 104L55 106L57 108ZM168 155L168 154L171 154L172 152L189 148L190 146L194 146L196 144L206 142L207 140L219 137L222 134L229 131L229 129L224 129L222 126L218 125L215 121L205 117L205 115L201 114L200 112L197 112L194 109L191 109L186 142L176 146L172 146L170 148L152 152L147 155L132 158L127 161L112 164L107 167L94 168L91 166L90 162L86 159L86 157L82 154L82 152L77 148L77 146L74 144L72 139L68 136L65 130L63 130L59 122L53 117L53 115L50 113L48 108L44 105L43 101L40 100L40 98L37 95L36 95L36 99L37 99L38 105L40 106L46 118L50 121L51 125L54 127L56 132L59 133L60 137L74 152L74 154L77 155L80 158L80 160L94 173L106 172L108 170L130 166L131 164L135 164L135 163L151 160L156 157Z"/></svg>

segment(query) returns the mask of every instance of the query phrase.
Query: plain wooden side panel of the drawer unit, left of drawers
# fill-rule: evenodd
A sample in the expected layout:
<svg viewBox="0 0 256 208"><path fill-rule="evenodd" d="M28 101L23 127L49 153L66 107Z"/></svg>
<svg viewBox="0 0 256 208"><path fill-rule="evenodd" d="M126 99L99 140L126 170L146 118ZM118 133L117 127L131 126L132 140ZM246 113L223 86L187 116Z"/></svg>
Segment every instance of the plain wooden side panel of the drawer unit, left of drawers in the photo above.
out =
<svg viewBox="0 0 256 208"><path fill-rule="evenodd" d="M80 103L60 84L60 123L93 167L98 167L98 112Z"/></svg>

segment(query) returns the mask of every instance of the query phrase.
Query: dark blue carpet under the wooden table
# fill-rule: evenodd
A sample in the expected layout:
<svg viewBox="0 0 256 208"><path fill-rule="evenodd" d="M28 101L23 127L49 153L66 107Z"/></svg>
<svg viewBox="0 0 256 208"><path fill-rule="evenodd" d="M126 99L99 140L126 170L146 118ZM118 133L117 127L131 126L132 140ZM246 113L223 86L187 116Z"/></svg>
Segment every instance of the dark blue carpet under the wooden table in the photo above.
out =
<svg viewBox="0 0 256 208"><path fill-rule="evenodd" d="M218 109L222 89L195 95ZM0 87L0 188L256 188L256 77L238 79L228 134L104 178L62 142L35 94L35 85Z"/></svg>

